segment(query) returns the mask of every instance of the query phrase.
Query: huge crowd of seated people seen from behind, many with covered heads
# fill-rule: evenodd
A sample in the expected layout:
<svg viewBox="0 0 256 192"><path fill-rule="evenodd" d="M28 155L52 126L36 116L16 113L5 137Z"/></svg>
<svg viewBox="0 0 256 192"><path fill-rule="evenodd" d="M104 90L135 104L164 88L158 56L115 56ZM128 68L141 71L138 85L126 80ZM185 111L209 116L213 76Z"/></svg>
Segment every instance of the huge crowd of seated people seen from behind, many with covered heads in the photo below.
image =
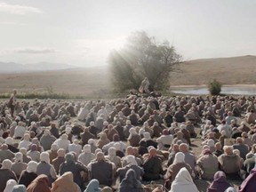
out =
<svg viewBox="0 0 256 192"><path fill-rule="evenodd" d="M2 101L0 192L140 192L152 180L162 185L155 192L198 191L196 180L210 181L209 192L255 191L255 102L160 94L15 99L15 108Z"/></svg>

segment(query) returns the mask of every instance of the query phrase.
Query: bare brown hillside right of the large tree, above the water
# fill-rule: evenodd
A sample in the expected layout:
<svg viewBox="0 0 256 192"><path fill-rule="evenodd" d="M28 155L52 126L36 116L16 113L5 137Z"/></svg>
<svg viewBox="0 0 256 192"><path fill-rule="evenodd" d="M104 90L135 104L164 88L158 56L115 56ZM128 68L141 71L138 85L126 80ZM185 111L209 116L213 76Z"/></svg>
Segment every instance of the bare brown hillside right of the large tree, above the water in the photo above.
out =
<svg viewBox="0 0 256 192"><path fill-rule="evenodd" d="M207 84L213 78L222 84L256 83L256 56L189 60L180 69L183 73L172 76L172 85Z"/></svg>

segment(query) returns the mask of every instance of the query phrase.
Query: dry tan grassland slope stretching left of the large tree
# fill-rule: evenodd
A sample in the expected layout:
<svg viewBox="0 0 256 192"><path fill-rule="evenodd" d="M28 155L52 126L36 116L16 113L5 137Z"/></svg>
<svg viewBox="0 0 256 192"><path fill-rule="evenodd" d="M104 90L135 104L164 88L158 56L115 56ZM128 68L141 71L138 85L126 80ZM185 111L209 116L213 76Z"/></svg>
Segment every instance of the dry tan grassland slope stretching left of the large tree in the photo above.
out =
<svg viewBox="0 0 256 192"><path fill-rule="evenodd" d="M110 87L107 68L79 68L71 70L1 74L0 92L68 92L73 95L96 97Z"/></svg>

